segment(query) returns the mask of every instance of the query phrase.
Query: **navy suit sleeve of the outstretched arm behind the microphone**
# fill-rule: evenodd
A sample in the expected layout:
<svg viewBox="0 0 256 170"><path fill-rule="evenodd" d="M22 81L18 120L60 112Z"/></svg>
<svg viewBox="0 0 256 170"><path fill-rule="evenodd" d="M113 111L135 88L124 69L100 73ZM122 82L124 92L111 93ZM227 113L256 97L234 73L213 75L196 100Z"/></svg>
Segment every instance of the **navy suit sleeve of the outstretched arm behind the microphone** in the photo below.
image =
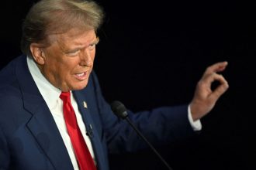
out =
<svg viewBox="0 0 256 170"><path fill-rule="evenodd" d="M99 81L93 75L95 95L99 105L102 127L106 135L109 153L137 151L147 147L130 125L119 120L102 97ZM194 134L188 118L188 105L159 107L138 113L128 111L131 121L153 145L164 145L172 141L183 140Z"/></svg>

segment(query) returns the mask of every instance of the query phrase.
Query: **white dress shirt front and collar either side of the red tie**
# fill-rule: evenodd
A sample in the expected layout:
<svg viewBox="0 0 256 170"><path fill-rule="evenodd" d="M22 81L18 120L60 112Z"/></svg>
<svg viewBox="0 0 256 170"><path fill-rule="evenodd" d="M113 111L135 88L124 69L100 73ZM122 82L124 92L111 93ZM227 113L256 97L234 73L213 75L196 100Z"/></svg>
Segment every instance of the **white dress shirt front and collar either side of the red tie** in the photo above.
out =
<svg viewBox="0 0 256 170"><path fill-rule="evenodd" d="M43 96L43 99L46 101L47 106L50 109L50 113L54 117L54 121L57 124L57 128L61 133L61 137L64 141L64 145L67 148L67 152L69 157L71 158L72 165L74 167L74 170L78 170L78 162L74 155L74 149L72 147L71 139L69 138L69 135L67 134L67 128L64 121L64 114L63 114L63 102L60 98L61 90L54 87L40 72L39 68L36 66L36 63L33 61L33 59L27 57L27 63L29 67L29 72L33 76L33 80L36 83L37 88L40 90L41 95ZM81 114L78 110L78 104L74 100L73 94L71 93L71 104L74 107L74 112L77 117L78 126L81 130L81 134L85 138L85 143L88 146L88 149L92 155L92 158L95 160L95 155L92 150L92 143L88 136L86 135L86 129L85 124L82 121Z"/></svg>

